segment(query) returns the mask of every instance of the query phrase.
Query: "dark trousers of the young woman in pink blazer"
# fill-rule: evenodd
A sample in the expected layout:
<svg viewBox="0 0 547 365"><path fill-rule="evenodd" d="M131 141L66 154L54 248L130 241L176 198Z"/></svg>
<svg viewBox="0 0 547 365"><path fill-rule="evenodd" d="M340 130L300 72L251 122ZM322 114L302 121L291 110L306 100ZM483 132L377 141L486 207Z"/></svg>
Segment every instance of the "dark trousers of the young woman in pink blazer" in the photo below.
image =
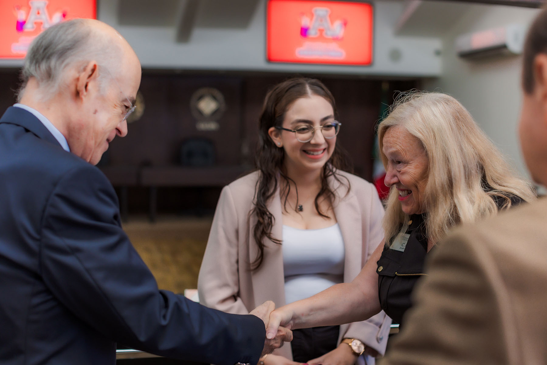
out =
<svg viewBox="0 0 547 365"><path fill-rule="evenodd" d="M293 360L306 363L336 349L340 326L293 329Z"/></svg>

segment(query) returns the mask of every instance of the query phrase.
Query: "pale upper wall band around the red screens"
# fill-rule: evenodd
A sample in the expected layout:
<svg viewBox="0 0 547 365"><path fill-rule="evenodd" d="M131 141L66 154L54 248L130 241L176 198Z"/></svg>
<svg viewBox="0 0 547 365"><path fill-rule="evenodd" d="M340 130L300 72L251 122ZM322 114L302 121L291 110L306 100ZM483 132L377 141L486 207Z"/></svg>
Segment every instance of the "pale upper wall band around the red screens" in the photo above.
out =
<svg viewBox="0 0 547 365"><path fill-rule="evenodd" d="M180 0L180 11L184 0ZM120 25L120 0L98 0L98 19L107 22L129 41L143 67L167 69L205 69L260 72L302 72L357 74L359 76L438 76L441 47L439 37L395 36L394 25L403 12L405 3L399 0L372 1L374 5L374 53L372 66L319 66L269 63L265 51L266 0L258 0L251 20L245 27L205 27L207 14L197 12L198 19L188 43L176 42L176 28L166 26ZM127 2L126 2L127 3ZM219 1L229 6L230 1ZM123 7L122 7L123 8ZM123 11L123 10L122 10ZM231 10L234 11L234 10ZM237 11L237 10L236 10ZM199 18L201 17L201 18ZM211 22L210 20L208 22ZM399 52L400 59L389 54ZM21 61L0 60L2 66L20 66Z"/></svg>

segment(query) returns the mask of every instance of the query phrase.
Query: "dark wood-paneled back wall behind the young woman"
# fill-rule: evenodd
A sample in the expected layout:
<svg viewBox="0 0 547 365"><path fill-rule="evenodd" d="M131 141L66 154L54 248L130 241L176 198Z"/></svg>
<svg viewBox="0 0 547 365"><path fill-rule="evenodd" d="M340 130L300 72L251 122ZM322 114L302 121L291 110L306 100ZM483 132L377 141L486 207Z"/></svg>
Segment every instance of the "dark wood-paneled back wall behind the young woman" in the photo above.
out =
<svg viewBox="0 0 547 365"><path fill-rule="evenodd" d="M2 110L15 102L18 72L15 69L0 72ZM108 165L104 170L115 186L125 184L132 187L127 194L129 213L146 211L149 205L148 197L142 196L148 194L148 186L140 184L139 169L146 167L150 176L150 168L176 168L179 166L181 143L187 138L205 137L212 141L216 150L216 166L234 166L233 178L240 175L241 171L251 170L264 96L273 85L292 76L145 70L140 88L146 106L144 114L129 125L129 134L125 138L116 138L110 144ZM337 119L342 123L337 143L350 155L354 172L370 180L373 171L374 128L379 119L382 81L334 76L318 78L327 85L336 100ZM190 110L191 96L197 89L204 87L219 90L226 103L224 114L217 120L217 131L197 130L197 120ZM389 81L388 103L392 101L393 90L416 87L419 87L417 80ZM172 175L173 171L170 173ZM215 182L214 169L208 171L206 175L211 181L207 187L199 186L199 183L194 186L191 181L185 182L184 187L180 182L172 185L165 183L164 187L159 187L156 196L158 212L177 211L174 207L186 209L190 201L199 201L201 212L213 210L219 187L226 183L226 173L225 169L222 174L219 171L218 181Z"/></svg>

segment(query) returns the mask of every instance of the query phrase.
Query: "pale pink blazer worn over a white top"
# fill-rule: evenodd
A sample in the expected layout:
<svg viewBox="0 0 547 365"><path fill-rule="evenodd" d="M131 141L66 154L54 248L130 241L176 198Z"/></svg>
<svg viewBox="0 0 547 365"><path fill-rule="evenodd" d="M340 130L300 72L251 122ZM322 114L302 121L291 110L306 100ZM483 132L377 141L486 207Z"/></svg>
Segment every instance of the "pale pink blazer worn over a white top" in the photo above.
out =
<svg viewBox="0 0 547 365"><path fill-rule="evenodd" d="M339 174L351 184L346 195L345 186L334 178L329 180L336 193L334 213L346 250L344 281L349 282L383 239L383 207L373 184L347 172ZM273 300L276 306L285 304L283 245L265 239L262 265L258 270L249 269L258 252L252 234L256 218L249 217L258 175L257 171L249 173L225 186L220 194L197 282L200 303L211 308L248 314L266 300ZM272 234L282 239L279 190L267 206L275 218ZM340 326L339 342L343 338L357 338L383 354L390 325L391 319L382 311L367 321ZM292 359L288 345L274 354Z"/></svg>

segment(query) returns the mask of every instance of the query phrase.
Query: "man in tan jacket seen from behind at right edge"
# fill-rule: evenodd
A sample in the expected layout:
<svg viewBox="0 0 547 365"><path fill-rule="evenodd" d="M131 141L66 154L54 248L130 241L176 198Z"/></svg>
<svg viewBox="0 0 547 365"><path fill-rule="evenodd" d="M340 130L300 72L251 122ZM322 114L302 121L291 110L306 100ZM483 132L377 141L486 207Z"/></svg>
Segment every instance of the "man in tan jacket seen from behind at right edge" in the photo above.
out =
<svg viewBox="0 0 547 365"><path fill-rule="evenodd" d="M547 186L547 9L523 53L520 143ZM453 231L382 365L547 363L547 200Z"/></svg>

